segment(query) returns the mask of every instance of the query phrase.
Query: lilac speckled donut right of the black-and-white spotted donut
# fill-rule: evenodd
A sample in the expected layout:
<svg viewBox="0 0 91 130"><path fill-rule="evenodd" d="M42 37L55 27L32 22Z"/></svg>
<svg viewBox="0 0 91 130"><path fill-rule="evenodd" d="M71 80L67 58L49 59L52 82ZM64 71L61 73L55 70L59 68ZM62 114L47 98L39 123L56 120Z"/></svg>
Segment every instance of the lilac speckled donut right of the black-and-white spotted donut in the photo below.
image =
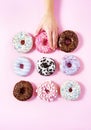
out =
<svg viewBox="0 0 91 130"><path fill-rule="evenodd" d="M73 75L80 69L80 61L76 56L66 55L60 63L60 70L66 75Z"/></svg>

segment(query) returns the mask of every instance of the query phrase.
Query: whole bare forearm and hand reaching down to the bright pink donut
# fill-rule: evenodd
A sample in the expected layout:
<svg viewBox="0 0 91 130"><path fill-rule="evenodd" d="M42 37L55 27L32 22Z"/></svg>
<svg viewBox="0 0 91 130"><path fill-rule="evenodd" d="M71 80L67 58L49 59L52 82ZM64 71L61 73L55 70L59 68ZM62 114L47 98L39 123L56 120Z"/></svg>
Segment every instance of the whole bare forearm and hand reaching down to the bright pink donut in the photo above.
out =
<svg viewBox="0 0 91 130"><path fill-rule="evenodd" d="M41 30L46 31L50 48L55 50L58 40L58 25L54 16L53 0L45 0L45 14L36 30L36 34Z"/></svg>

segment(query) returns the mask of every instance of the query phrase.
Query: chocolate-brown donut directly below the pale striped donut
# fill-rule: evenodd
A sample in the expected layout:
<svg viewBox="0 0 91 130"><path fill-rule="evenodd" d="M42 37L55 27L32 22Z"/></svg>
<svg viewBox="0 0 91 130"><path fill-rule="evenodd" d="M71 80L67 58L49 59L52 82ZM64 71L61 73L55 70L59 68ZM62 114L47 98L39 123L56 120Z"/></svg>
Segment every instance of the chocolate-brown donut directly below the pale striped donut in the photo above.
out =
<svg viewBox="0 0 91 130"><path fill-rule="evenodd" d="M13 89L13 95L20 101L26 101L33 95L33 86L28 81L19 81L15 84Z"/></svg>

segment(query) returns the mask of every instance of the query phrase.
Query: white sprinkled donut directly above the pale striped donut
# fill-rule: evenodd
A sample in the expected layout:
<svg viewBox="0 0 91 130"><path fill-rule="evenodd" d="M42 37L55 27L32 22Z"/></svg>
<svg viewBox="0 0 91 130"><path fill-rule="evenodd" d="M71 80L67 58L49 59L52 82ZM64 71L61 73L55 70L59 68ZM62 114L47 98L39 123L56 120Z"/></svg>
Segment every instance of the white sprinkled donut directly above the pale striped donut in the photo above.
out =
<svg viewBox="0 0 91 130"><path fill-rule="evenodd" d="M33 47L33 36L29 33L20 32L13 37L12 42L18 52L26 53Z"/></svg>

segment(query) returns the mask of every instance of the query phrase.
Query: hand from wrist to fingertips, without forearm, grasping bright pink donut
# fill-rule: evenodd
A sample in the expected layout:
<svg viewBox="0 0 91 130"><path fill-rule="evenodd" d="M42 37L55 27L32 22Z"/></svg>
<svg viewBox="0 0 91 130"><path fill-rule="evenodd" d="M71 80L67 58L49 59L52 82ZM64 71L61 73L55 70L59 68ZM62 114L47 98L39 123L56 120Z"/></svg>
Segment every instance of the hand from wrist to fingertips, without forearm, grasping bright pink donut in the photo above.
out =
<svg viewBox="0 0 91 130"><path fill-rule="evenodd" d="M41 30L46 31L49 45L51 49L55 50L57 48L58 26L53 14L48 13L43 16L37 28L36 34L38 34Z"/></svg>

